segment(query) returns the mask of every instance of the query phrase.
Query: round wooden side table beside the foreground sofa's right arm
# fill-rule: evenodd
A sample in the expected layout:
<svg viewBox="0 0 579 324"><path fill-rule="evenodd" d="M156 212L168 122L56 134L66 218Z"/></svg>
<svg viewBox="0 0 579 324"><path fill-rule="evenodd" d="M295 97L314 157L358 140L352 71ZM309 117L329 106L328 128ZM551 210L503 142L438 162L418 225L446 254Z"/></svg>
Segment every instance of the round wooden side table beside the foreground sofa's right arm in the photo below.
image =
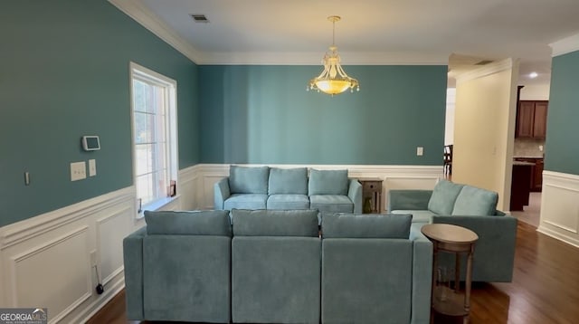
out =
<svg viewBox="0 0 579 324"><path fill-rule="evenodd" d="M479 240L479 235L457 225L451 224L427 224L422 226L421 232L432 241L432 314L434 311L443 315L462 316L463 323L469 322L470 313L470 284L472 281L472 254L474 244ZM454 253L454 291L450 287L437 287L438 253ZM467 253L467 273L464 282L464 296L460 287L460 253ZM445 291L448 290L448 291ZM440 294L444 298L440 297Z"/></svg>

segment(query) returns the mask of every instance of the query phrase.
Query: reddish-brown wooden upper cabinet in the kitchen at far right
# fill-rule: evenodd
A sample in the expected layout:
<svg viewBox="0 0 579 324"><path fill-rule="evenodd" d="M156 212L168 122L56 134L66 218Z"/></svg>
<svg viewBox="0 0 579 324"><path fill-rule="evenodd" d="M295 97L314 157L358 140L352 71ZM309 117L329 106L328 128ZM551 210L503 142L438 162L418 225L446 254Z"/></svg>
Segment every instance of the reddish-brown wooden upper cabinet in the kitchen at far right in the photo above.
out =
<svg viewBox="0 0 579 324"><path fill-rule="evenodd" d="M545 138L547 100L520 100L517 107L517 138Z"/></svg>

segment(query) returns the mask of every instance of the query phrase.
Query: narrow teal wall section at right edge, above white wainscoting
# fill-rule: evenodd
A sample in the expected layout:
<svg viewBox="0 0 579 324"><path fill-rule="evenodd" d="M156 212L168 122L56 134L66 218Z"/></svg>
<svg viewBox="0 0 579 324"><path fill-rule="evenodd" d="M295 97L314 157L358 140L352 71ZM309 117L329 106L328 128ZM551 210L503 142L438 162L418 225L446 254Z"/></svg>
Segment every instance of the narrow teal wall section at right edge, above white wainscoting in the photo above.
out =
<svg viewBox="0 0 579 324"><path fill-rule="evenodd" d="M553 58L545 169L579 175L579 51Z"/></svg>

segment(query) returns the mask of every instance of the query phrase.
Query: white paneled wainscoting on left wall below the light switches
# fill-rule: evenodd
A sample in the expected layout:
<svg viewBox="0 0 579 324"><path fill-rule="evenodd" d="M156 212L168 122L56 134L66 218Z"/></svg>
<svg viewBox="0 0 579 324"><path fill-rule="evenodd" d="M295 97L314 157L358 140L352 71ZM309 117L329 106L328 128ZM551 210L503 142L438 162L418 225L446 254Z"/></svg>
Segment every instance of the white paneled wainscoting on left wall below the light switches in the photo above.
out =
<svg viewBox="0 0 579 324"><path fill-rule="evenodd" d="M0 228L0 305L45 307L51 323L90 318L124 287L122 239L145 224L136 214L128 187Z"/></svg>

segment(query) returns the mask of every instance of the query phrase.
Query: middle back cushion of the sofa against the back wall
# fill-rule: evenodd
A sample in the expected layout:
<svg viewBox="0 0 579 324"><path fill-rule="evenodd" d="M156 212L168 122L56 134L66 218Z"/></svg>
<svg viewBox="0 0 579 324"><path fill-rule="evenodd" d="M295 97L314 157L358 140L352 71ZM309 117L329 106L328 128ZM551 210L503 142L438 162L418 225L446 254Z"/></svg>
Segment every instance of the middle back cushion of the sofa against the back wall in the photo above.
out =
<svg viewBox="0 0 579 324"><path fill-rule="evenodd" d="M270 195L308 195L308 168L271 167L268 190Z"/></svg>

